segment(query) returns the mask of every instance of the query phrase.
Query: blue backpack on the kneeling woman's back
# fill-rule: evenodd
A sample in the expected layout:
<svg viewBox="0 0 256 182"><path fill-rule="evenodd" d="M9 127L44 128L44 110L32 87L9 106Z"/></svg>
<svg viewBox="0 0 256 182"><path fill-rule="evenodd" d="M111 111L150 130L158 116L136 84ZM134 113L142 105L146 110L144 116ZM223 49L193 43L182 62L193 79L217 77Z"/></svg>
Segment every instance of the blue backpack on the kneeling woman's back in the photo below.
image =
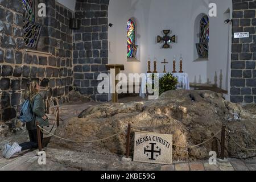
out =
<svg viewBox="0 0 256 182"><path fill-rule="evenodd" d="M32 105L29 99L23 102L19 119L23 123L29 123L31 121L34 121L35 114L33 113Z"/></svg>

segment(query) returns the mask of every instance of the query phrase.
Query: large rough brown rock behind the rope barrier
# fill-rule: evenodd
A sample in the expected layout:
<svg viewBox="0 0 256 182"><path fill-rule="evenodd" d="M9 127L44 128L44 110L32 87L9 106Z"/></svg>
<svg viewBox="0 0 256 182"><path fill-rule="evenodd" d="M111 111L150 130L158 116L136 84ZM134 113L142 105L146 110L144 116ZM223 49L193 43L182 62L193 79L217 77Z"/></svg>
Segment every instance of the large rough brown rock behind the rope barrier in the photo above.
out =
<svg viewBox="0 0 256 182"><path fill-rule="evenodd" d="M221 130L224 123L230 135L241 146L256 148L256 115L242 106L225 101L221 94L210 91L176 90L164 93L155 101L127 104L102 104L82 111L55 132L77 141L97 140L125 131L127 125L138 130L172 134L174 144L192 146L204 142ZM133 148L132 134L131 148ZM220 153L221 134L196 148L173 148L174 160L207 159L209 151ZM49 148L102 154L125 154L126 131L113 138L94 143L65 142L52 138ZM246 157L255 151L237 147L226 135L226 156ZM133 151L132 151L133 152Z"/></svg>

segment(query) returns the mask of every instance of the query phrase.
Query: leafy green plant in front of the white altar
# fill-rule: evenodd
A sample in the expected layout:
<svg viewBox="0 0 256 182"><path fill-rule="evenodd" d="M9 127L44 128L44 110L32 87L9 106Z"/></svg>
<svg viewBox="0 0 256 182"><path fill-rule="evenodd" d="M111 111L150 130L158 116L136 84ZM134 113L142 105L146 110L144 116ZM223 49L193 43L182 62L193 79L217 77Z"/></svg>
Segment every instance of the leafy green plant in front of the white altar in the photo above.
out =
<svg viewBox="0 0 256 182"><path fill-rule="evenodd" d="M177 77L172 73L166 73L162 78L159 78L159 96L168 90L176 90L178 84Z"/></svg>

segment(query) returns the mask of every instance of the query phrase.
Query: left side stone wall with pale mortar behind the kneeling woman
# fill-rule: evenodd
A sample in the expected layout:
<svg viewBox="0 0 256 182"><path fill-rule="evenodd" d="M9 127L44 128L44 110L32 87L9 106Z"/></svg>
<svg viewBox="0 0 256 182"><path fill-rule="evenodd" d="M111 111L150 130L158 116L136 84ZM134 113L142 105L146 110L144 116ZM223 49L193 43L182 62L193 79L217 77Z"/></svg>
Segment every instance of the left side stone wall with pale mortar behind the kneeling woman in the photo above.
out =
<svg viewBox="0 0 256 182"><path fill-rule="evenodd" d="M44 2L44 1L40 1ZM47 17L38 18L43 30L39 49L51 52L28 53L23 35L23 5L21 0L0 0L0 119L9 121L19 114L22 92L30 80L37 80L43 96L52 104L68 101L72 90L72 31L69 18L72 11L46 0ZM37 12L36 12L37 14Z"/></svg>

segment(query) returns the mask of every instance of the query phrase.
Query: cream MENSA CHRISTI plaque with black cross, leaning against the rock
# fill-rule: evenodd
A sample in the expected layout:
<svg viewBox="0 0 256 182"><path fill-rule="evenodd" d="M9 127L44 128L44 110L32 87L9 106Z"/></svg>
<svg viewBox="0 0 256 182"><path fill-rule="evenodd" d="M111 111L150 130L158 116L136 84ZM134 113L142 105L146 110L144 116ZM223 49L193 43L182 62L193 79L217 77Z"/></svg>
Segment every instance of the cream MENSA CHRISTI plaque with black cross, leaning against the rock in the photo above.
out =
<svg viewBox="0 0 256 182"><path fill-rule="evenodd" d="M172 164L172 135L135 133L135 162Z"/></svg>

